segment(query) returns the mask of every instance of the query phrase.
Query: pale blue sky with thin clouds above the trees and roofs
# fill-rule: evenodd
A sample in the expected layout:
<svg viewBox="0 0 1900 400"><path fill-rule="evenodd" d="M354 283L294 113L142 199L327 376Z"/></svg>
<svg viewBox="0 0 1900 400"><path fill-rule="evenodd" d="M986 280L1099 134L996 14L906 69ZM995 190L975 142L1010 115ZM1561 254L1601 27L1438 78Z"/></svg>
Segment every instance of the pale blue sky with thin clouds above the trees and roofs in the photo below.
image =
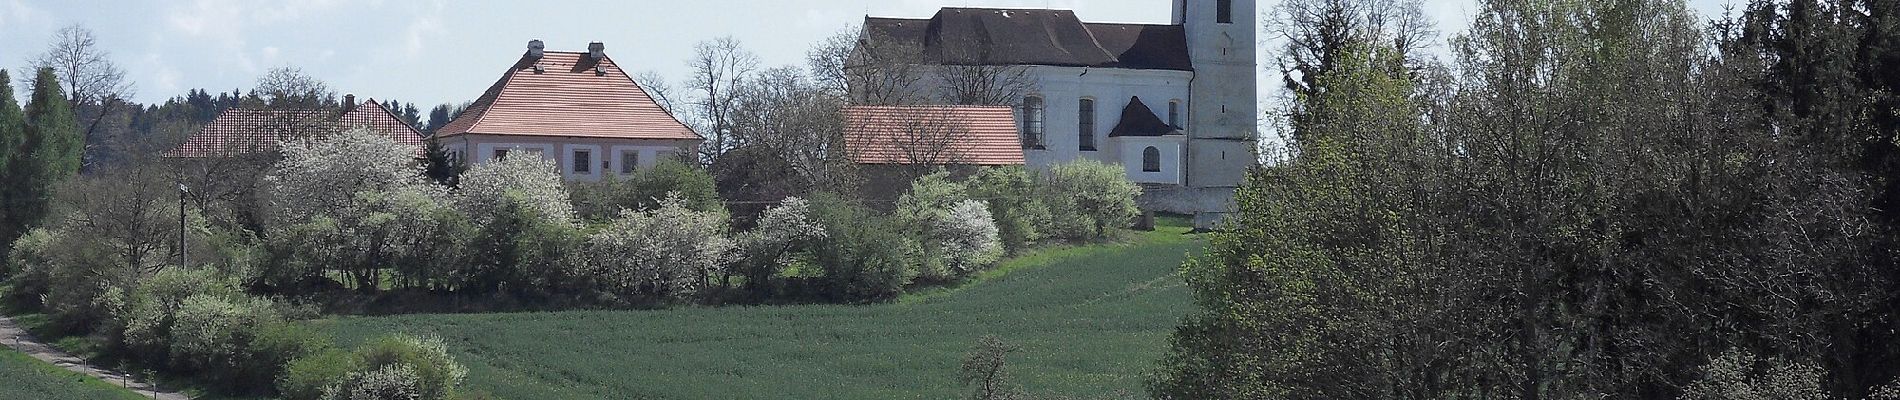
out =
<svg viewBox="0 0 1900 400"><path fill-rule="evenodd" d="M1689 0L1718 15L1735 0ZM1256 11L1277 0L1260 0ZM1168 23L1170 0L0 0L0 68L23 70L55 30L84 25L135 83L133 100L186 89L249 89L276 66L296 66L338 95L428 106L473 100L540 38L553 51L604 42L627 70L673 85L694 44L732 36L762 66L804 66L811 44L864 15L929 17L937 8L1058 8L1092 23ZM1440 32L1457 32L1476 0L1425 0ZM1267 40L1262 34L1262 40ZM1260 45L1262 95L1277 91ZM13 74L15 80L21 76ZM15 83L25 95L25 83Z"/></svg>

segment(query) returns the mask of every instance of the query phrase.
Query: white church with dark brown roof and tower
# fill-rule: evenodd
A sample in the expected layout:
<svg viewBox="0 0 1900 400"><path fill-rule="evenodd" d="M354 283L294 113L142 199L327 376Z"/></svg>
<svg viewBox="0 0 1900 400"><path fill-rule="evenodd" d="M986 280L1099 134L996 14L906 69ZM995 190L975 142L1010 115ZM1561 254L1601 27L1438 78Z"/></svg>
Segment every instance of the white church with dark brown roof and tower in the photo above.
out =
<svg viewBox="0 0 1900 400"><path fill-rule="evenodd" d="M1208 227L1256 163L1252 0L1172 0L1170 25L1089 23L1070 9L942 8L864 17L861 104L1003 104L1028 167L1121 165L1142 205ZM891 95L908 87L922 95Z"/></svg>

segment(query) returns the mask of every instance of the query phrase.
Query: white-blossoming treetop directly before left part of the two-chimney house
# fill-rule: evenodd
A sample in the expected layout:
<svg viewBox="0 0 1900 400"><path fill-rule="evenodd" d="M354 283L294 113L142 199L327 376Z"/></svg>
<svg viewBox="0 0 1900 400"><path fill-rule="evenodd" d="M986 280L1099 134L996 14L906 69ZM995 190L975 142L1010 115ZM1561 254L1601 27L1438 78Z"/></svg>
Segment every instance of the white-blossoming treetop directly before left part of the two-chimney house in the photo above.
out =
<svg viewBox="0 0 1900 400"><path fill-rule="evenodd" d="M475 165L462 173L458 186L462 210L477 226L488 224L511 201L524 201L524 209L559 222L574 220L574 205L568 203L568 188L560 182L555 163L543 157L504 157L494 163ZM515 193L515 195L509 195Z"/></svg>

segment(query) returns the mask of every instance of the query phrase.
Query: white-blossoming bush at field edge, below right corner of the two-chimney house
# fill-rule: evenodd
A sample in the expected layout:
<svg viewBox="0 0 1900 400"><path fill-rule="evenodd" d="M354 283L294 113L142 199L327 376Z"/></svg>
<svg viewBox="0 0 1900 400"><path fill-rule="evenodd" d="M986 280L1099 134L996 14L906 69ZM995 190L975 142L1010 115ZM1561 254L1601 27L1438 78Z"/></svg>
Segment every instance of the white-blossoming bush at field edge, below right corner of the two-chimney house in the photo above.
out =
<svg viewBox="0 0 1900 400"><path fill-rule="evenodd" d="M690 298L724 271L732 241L726 216L686 209L669 193L654 210L621 210L587 237L585 265L614 294Z"/></svg>

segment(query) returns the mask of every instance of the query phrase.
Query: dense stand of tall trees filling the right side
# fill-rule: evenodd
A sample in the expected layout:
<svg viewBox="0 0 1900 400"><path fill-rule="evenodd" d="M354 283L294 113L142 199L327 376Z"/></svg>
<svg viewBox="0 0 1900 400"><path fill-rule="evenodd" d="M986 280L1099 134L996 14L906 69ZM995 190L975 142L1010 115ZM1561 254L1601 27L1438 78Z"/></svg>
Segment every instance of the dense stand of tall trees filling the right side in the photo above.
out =
<svg viewBox="0 0 1900 400"><path fill-rule="evenodd" d="M1900 2L1288 0L1159 398L1892 398Z"/></svg>

